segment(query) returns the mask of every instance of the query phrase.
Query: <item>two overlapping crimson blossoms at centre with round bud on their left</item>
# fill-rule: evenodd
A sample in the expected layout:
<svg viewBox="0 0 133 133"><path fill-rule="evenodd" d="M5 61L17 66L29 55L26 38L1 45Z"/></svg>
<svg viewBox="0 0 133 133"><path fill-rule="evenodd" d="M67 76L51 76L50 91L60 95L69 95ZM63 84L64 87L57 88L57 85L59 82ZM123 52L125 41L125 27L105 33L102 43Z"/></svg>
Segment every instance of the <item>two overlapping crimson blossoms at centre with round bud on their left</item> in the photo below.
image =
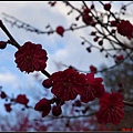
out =
<svg viewBox="0 0 133 133"><path fill-rule="evenodd" d="M63 101L74 100L78 95L82 102L93 101L104 94L102 78L94 78L94 73L79 73L74 69L66 69L53 73L42 82L44 88Z"/></svg>

